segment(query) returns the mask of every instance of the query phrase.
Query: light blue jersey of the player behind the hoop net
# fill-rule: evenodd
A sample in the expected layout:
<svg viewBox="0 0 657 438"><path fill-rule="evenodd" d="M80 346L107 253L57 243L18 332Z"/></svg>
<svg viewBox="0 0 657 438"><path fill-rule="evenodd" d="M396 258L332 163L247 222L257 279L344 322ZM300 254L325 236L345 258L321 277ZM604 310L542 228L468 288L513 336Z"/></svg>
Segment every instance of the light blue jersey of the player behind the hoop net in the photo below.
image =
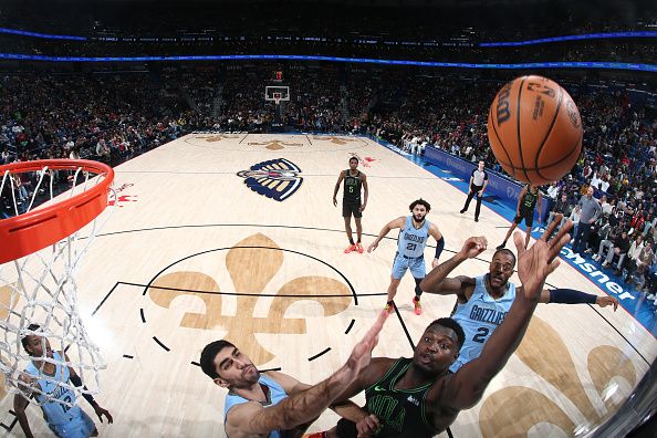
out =
<svg viewBox="0 0 657 438"><path fill-rule="evenodd" d="M58 362L64 362L58 352L52 352L52 356ZM36 368L32 362L25 367L25 373L38 378L36 383L39 384L39 387L43 393L48 394L50 398L50 400L48 400L44 395L35 394L36 400L43 404L41 408L43 409L43 414L45 415L49 425L56 426L67 424L81 417L82 413L77 405L69 407L61 403L75 404L75 393L73 390L65 386L58 385L54 382L39 378L39 376L43 376L43 372ZM71 373L69 372L69 367L66 365L56 364L55 375L51 378L55 382L67 384L70 377Z"/></svg>

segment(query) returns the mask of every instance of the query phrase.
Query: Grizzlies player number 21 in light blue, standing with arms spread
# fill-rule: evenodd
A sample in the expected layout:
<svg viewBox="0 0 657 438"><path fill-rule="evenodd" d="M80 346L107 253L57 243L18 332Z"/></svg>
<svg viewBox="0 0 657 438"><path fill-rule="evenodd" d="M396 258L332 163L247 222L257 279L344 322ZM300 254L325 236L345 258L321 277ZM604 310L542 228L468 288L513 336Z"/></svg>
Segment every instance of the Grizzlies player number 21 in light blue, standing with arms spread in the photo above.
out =
<svg viewBox="0 0 657 438"><path fill-rule="evenodd" d="M378 242L380 242L392 229L400 229L385 309L388 312L393 311L393 300L397 294L397 288L399 286L406 270L410 269L410 273L415 279L415 298L413 299L413 305L415 307L415 314L420 315L423 313L423 306L420 304L423 290L420 288L420 282L427 273L425 268L425 248L427 247L429 236L436 239L436 257L431 262L431 268L435 268L438 265L438 259L445 248L445 239L438 230L438 227L427 220L427 215L431 210L429 202L420 198L414 200L413 204L408 206L408 209L413 215L408 217L401 216L400 218L388 222L383 230L380 230L378 237L372 242L369 248L367 248L367 252L374 251L376 247L378 247Z"/></svg>

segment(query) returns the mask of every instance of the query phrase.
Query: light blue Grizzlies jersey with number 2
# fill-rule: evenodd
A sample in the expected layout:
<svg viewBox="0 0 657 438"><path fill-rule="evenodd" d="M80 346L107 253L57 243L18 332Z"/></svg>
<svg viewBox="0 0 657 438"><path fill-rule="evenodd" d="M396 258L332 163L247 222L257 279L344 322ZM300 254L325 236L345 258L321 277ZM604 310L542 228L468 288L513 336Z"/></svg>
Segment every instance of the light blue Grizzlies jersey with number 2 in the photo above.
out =
<svg viewBox="0 0 657 438"><path fill-rule="evenodd" d="M484 343L504 321L513 300L515 300L515 284L508 282L507 293L496 300L486 290L486 278L487 275L481 275L474 279L472 296L465 304L458 303L451 315L451 319L456 320L466 332L466 342L461 346L459 357L449 368L452 373L479 357Z"/></svg>

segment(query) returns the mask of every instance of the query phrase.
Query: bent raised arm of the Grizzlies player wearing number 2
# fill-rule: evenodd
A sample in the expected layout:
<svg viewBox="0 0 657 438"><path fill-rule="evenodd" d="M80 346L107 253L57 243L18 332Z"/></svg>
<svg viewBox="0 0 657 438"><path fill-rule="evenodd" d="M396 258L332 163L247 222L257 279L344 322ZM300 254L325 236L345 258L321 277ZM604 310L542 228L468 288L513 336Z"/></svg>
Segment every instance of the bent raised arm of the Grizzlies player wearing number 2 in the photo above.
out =
<svg viewBox="0 0 657 438"><path fill-rule="evenodd" d="M471 237L466 240L463 247L451 259L440 263L425 277L420 283L420 288L425 293L434 293L438 295L460 295L466 284L473 284L473 279L465 275L448 279L447 275L461 264L465 260L473 259L483 251L488 246L484 237Z"/></svg>

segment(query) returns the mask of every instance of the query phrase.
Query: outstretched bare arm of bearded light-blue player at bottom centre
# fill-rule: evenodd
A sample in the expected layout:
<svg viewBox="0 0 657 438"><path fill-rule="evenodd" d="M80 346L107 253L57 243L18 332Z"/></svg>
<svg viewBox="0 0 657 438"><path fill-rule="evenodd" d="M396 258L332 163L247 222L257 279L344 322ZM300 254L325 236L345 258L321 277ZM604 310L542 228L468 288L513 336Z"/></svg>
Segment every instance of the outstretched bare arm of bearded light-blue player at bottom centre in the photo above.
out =
<svg viewBox="0 0 657 438"><path fill-rule="evenodd" d="M331 377L271 407L262 408L255 403L236 406L229 411L228 426L247 434L268 434L291 429L317 417L369 364L386 316L387 312L379 313L372 328L354 346L346 363Z"/></svg>

